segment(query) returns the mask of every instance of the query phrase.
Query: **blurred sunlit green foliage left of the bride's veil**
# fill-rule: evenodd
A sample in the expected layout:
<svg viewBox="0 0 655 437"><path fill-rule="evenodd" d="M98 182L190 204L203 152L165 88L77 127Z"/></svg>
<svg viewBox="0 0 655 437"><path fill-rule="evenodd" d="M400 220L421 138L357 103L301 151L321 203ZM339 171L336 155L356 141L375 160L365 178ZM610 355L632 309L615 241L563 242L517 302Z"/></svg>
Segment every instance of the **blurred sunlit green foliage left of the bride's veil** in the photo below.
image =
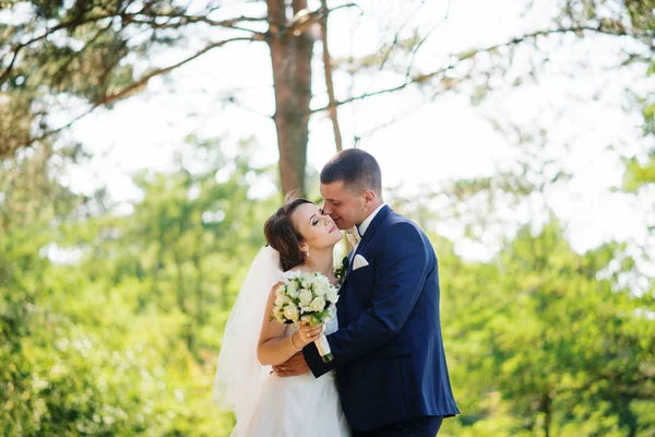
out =
<svg viewBox="0 0 655 437"><path fill-rule="evenodd" d="M272 206L248 198L259 170L247 166L246 146L235 165L215 142L194 146L207 170L141 175L144 198L128 216L88 217L81 211L96 199L71 194L48 172L21 177L47 167L41 156L5 165L0 424L8 435L229 434L233 418L210 402L213 373ZM216 168L228 168L221 181Z"/></svg>

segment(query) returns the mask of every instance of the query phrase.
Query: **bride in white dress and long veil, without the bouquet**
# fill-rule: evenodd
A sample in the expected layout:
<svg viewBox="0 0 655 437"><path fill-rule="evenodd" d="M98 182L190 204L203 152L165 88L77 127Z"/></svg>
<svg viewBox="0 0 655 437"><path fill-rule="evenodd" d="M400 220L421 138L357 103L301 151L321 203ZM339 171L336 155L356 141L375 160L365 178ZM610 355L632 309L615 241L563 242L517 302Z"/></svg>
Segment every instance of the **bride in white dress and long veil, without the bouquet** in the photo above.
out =
<svg viewBox="0 0 655 437"><path fill-rule="evenodd" d="M337 284L333 249L342 234L306 199L285 203L264 225L269 245L257 255L225 328L213 399L235 412L233 437L349 436L333 373L281 378L271 366L337 330L336 308L324 327L270 320L274 291L289 272L318 272ZM255 320L261 320L255 322Z"/></svg>

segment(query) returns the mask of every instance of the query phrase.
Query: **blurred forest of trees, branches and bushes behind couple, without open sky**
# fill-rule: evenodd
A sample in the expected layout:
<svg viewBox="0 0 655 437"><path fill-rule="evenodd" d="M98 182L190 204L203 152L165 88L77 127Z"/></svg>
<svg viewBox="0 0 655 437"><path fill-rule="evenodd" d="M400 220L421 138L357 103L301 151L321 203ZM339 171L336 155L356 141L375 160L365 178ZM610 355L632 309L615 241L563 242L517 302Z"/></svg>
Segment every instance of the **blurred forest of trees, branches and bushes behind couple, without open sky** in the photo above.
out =
<svg viewBox="0 0 655 437"><path fill-rule="evenodd" d="M602 147L622 166L611 194L646 211L644 238L574 250L547 199L575 180L563 161L575 144L501 111L489 122L515 151L505 167L412 197L389 187L386 200L428 232L440 261L462 411L440 435L655 436L655 1L515 1L525 20L541 3L551 14L420 64L452 13L441 1L431 26L404 19L429 3L394 14L391 0L0 0L0 434L228 436L234 418L210 401L223 327L281 193L320 201L310 120L329 120L331 154L353 145L340 111L354 103L403 93L502 102L539 86L559 50L579 48L563 75L629 78L621 105L640 140ZM337 14L368 16L386 37L368 55L331 57ZM71 135L76 122L239 44L267 49L278 165L255 164L255 138L189 132L170 170L132 175L136 200L70 182L93 160ZM378 87L344 85L380 74ZM217 111L239 105L239 90L219 98ZM603 102L603 90L579 98ZM260 182L277 189L253 196ZM462 255L438 232L444 223L496 249Z"/></svg>

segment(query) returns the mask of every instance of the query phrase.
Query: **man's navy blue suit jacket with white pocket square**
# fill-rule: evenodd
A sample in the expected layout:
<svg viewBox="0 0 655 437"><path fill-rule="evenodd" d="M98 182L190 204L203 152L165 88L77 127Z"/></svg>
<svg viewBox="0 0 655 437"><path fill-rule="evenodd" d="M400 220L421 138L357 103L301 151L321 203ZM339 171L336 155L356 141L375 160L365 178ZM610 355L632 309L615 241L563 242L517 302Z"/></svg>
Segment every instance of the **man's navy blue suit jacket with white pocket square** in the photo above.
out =
<svg viewBox="0 0 655 437"><path fill-rule="evenodd" d="M334 361L315 347L305 358L315 377L336 370L346 418L370 430L418 416L458 413L451 390L439 318L437 257L425 233L383 206L355 255L369 265L340 291L340 330L327 336Z"/></svg>

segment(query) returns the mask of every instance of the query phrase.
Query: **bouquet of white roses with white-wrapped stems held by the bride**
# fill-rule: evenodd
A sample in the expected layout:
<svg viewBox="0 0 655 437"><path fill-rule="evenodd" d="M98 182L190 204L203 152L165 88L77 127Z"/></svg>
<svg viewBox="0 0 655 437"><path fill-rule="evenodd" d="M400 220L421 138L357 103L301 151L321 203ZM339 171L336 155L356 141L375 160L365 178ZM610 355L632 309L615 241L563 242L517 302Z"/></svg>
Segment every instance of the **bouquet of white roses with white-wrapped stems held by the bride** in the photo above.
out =
<svg viewBox="0 0 655 437"><path fill-rule="evenodd" d="M281 323L306 321L314 327L332 318L330 309L338 300L337 288L320 273L293 272L275 291L272 319ZM334 359L325 335L314 342L323 363Z"/></svg>

